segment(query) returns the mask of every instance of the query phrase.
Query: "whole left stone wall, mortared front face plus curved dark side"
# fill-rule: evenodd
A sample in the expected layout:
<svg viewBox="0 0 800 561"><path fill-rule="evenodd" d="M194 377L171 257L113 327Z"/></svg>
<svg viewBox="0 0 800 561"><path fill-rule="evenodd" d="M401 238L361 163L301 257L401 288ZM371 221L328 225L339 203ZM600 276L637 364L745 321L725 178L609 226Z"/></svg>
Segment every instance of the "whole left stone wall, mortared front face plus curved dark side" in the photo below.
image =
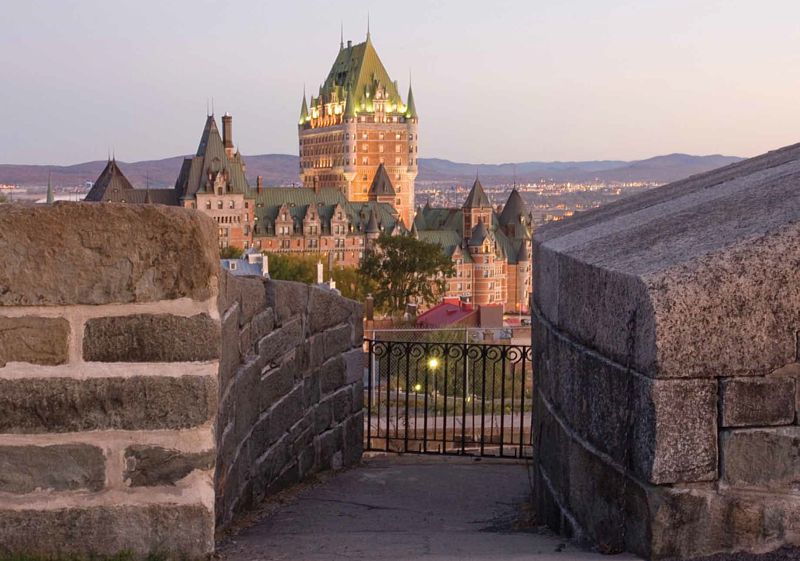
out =
<svg viewBox="0 0 800 561"><path fill-rule="evenodd" d="M204 558L358 461L359 306L221 274L217 244L181 208L0 211L0 557Z"/></svg>

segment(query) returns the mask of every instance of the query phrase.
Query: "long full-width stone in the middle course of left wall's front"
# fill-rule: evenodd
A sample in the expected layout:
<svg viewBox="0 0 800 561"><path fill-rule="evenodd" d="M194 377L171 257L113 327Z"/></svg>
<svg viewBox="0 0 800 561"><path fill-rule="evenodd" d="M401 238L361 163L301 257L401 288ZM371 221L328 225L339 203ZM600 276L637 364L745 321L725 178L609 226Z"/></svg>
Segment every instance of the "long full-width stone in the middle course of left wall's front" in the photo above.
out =
<svg viewBox="0 0 800 561"><path fill-rule="evenodd" d="M216 403L209 376L0 380L0 432L183 429Z"/></svg>

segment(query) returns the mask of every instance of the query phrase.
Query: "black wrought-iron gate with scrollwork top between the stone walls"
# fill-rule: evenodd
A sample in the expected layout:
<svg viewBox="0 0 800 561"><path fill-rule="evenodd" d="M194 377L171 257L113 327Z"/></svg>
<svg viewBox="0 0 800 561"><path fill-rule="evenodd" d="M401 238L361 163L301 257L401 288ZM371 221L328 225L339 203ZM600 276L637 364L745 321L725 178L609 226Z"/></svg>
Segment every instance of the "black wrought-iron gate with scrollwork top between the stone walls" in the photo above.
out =
<svg viewBox="0 0 800 561"><path fill-rule="evenodd" d="M366 344L367 450L532 456L530 346Z"/></svg>

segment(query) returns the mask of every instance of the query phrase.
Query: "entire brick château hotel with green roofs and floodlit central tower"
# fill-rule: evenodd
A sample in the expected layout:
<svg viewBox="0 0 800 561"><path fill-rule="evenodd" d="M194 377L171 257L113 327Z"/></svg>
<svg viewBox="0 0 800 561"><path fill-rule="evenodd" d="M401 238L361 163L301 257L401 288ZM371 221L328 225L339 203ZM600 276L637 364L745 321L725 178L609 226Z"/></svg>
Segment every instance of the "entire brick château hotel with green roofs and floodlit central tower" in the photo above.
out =
<svg viewBox="0 0 800 561"><path fill-rule="evenodd" d="M514 190L495 209L477 179L460 209L415 208L419 116L372 39L339 45L316 96L304 94L298 122L303 187L252 187L233 142L233 119L206 118L194 156L173 189L134 189L109 160L88 201L196 208L219 227L220 246L268 253L319 253L357 265L381 233L435 242L453 260L447 296L476 305L529 310L531 222Z"/></svg>

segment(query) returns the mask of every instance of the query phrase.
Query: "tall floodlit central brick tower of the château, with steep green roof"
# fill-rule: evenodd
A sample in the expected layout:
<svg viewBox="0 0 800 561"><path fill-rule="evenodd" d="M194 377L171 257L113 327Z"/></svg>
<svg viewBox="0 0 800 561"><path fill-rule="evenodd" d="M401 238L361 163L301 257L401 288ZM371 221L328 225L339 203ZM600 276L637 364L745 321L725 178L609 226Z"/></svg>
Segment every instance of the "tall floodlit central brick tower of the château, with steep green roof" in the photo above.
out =
<svg viewBox="0 0 800 561"><path fill-rule="evenodd" d="M340 190L351 202L370 193L379 168L394 188L391 202L404 225L414 213L418 124L411 86L404 101L389 78L369 32L363 43L339 45L328 77L309 102L303 94L298 123L300 177L307 188Z"/></svg>

